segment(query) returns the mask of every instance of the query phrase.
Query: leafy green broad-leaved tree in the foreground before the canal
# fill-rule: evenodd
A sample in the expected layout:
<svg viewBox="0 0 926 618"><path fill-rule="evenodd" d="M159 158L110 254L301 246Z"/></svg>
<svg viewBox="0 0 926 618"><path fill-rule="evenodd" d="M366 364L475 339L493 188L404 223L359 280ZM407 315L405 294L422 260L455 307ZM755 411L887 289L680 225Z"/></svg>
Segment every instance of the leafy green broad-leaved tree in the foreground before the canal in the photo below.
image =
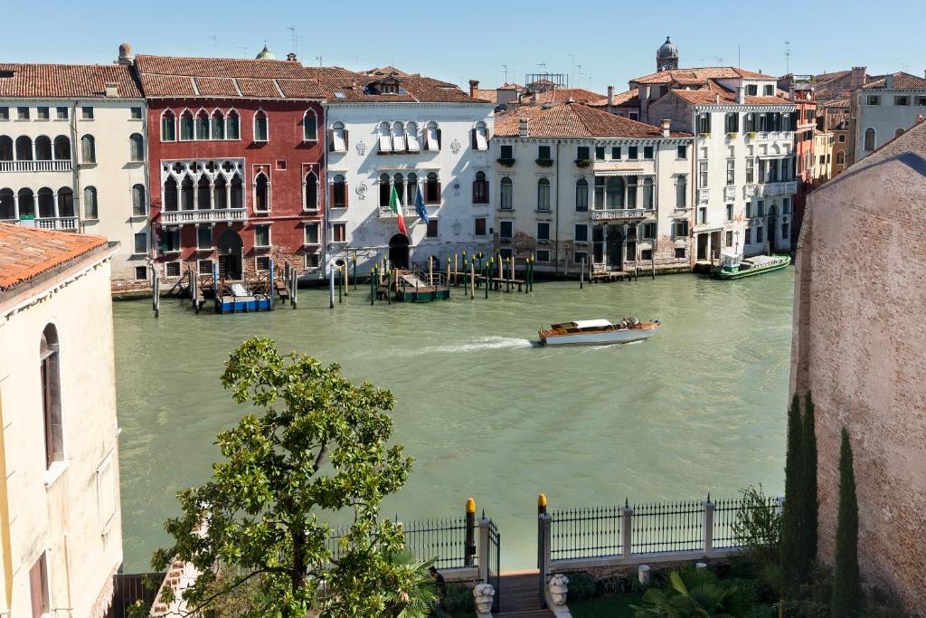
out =
<svg viewBox="0 0 926 618"><path fill-rule="evenodd" d="M253 581L253 615L394 615L389 601L410 597L419 577L388 558L404 547L401 526L379 521L382 498L411 466L401 446L387 446L392 394L257 337L232 352L221 382L263 413L219 434L224 460L205 485L178 493L182 514L165 523L173 544L152 565L194 564L201 575L183 593L194 610ZM352 524L334 552L323 518L339 511ZM222 570L232 577L216 586Z"/></svg>

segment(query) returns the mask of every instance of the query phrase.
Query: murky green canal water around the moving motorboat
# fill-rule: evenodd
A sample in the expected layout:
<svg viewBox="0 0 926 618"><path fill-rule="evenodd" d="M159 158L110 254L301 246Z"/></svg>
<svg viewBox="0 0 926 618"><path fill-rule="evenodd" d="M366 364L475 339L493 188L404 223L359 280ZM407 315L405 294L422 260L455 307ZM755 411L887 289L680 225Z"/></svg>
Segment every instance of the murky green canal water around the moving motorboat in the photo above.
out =
<svg viewBox="0 0 926 618"><path fill-rule="evenodd" d="M537 494L551 508L781 492L793 270L736 282L674 275L628 284L536 284L495 294L369 306L361 285L328 309L195 315L165 300L114 304L128 572L167 542L175 492L202 483L214 438L244 408L219 385L245 338L336 361L397 397L394 439L416 458L384 514L498 523L505 569L533 566ZM456 292L456 290L455 290ZM634 315L665 323L615 347L532 347L541 325Z"/></svg>

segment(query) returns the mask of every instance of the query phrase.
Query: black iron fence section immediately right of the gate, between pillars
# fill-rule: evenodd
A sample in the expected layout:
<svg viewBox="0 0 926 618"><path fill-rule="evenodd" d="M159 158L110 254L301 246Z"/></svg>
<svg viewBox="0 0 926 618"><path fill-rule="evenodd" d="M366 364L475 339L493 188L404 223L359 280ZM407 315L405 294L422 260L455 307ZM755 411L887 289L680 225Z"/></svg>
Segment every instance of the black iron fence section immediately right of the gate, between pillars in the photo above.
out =
<svg viewBox="0 0 926 618"><path fill-rule="evenodd" d="M551 511L550 558L618 556L621 511L618 506Z"/></svg>

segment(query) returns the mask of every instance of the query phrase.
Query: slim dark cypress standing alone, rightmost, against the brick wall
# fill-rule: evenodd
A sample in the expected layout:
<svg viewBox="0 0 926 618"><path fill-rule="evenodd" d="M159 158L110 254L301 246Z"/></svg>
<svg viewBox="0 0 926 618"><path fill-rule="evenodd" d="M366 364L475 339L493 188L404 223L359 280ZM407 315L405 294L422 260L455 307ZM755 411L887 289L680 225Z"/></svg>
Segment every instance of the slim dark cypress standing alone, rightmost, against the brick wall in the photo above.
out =
<svg viewBox="0 0 926 618"><path fill-rule="evenodd" d="M839 515L836 520L836 550L833 558L833 618L857 616L861 600L858 579L858 501L856 474L852 470L852 445L843 427L843 444L839 449Z"/></svg>

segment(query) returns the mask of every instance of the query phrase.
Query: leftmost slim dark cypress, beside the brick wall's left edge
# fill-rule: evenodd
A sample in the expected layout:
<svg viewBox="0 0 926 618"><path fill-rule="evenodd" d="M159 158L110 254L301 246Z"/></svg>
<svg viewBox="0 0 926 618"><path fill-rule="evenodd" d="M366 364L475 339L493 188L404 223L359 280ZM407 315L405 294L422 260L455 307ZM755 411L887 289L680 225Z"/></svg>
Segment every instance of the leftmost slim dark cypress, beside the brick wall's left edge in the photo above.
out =
<svg viewBox="0 0 926 618"><path fill-rule="evenodd" d="M782 598L791 598L807 574L802 504L806 477L801 451L803 440L800 399L795 393L788 410L788 451L784 460L784 511L782 512Z"/></svg>

